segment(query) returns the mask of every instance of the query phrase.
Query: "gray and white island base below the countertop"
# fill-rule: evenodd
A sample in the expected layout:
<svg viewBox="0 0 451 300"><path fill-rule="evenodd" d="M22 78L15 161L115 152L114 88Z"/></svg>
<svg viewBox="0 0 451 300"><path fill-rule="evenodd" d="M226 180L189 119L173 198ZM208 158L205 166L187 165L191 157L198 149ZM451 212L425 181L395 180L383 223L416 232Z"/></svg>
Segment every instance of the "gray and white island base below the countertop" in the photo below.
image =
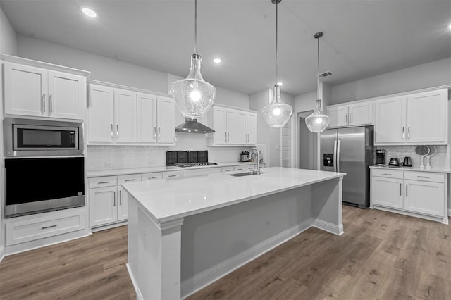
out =
<svg viewBox="0 0 451 300"><path fill-rule="evenodd" d="M180 299L309 227L342 235L342 177L158 222L129 197L128 270L138 299Z"/></svg>

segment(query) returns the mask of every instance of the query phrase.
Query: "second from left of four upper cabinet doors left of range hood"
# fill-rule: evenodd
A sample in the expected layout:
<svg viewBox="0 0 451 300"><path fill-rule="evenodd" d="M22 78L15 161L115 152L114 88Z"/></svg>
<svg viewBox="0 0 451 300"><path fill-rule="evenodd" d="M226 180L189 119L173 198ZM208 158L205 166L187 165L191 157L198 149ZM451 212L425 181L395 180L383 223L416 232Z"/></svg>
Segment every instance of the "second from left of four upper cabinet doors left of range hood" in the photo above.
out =
<svg viewBox="0 0 451 300"><path fill-rule="evenodd" d="M137 141L136 93L123 89L114 91L114 135L116 142Z"/></svg>

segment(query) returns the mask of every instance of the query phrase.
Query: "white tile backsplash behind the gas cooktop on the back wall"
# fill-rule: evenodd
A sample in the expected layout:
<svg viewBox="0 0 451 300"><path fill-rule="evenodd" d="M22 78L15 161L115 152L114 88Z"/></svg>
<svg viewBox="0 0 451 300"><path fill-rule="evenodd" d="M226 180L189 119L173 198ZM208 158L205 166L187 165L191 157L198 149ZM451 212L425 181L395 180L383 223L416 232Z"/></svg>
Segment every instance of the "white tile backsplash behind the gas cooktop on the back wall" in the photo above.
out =
<svg viewBox="0 0 451 300"><path fill-rule="evenodd" d="M166 165L166 151L208 150L209 161L228 163L240 160L249 148L208 146L207 137L196 133L175 133L175 146L87 146L87 171L122 168L152 168Z"/></svg>

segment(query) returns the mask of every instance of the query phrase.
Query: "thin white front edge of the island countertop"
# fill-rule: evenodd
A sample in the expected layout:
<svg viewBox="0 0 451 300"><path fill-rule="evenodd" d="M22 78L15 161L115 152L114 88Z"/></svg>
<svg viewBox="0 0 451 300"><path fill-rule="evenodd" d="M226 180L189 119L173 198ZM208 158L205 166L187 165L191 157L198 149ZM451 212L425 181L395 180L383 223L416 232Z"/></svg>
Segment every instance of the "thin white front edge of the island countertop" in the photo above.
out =
<svg viewBox="0 0 451 300"><path fill-rule="evenodd" d="M189 217L190 215L197 215L199 213L205 213L207 211L213 211L214 209L217 209L217 208L223 208L223 207L227 207L227 206L232 206L234 204L240 204L242 202L253 200L253 199L257 199L257 198L261 198L261 197L264 197L264 196L269 196L269 195L272 195L272 194L277 194L277 193L280 193L280 192L289 191L290 189L297 189L299 187L305 187L307 185L314 185L315 183L318 183L318 182L323 182L323 181L327 181L327 180L333 180L333 179L336 179L336 178L341 178L342 179L345 175L346 175L346 173L335 173L334 175L330 175L330 177L327 177L327 178L321 178L319 180L311 180L309 182L302 182L302 184L299 184L299 185L292 185L290 187L285 187L285 188L282 188L282 189L275 189L275 190L273 190L271 192L266 192L266 193L261 193L261 194L257 194L257 195L254 195L254 196L248 196L248 197L245 197L245 198L235 199L235 200L228 201L228 202L225 202L225 203L216 204L216 205L208 206L208 207L204 207L204 208L199 208L199 209L196 209L196 210L193 210L193 211L189 211L189 212L186 212L186 213L178 213L178 214L175 214L175 215L170 215L170 216L162 217L162 218L157 218L139 200L137 200L137 202L140 204L140 206L142 208L145 209L147 214L149 214L149 216L152 218L152 220L154 220L154 222L156 224L162 224L162 223L170 222L170 221L173 221L173 220L178 220L178 219L181 219L181 218L186 218L186 217ZM122 186L123 186L123 188L125 190L127 190L127 192L130 192L128 190L128 188L127 188L128 185L131 185L131 184L123 184Z"/></svg>

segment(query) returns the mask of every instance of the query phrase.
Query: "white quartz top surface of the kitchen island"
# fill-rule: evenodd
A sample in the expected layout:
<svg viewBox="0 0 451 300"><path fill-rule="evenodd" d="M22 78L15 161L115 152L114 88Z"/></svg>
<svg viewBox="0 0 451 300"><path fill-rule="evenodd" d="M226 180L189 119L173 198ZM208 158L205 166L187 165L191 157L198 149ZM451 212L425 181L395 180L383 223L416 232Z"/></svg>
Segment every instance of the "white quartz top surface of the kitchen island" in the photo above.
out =
<svg viewBox="0 0 451 300"><path fill-rule="evenodd" d="M233 177L215 173L179 180L132 182L123 187L157 223L163 223L345 175L272 167L264 168L261 175Z"/></svg>

